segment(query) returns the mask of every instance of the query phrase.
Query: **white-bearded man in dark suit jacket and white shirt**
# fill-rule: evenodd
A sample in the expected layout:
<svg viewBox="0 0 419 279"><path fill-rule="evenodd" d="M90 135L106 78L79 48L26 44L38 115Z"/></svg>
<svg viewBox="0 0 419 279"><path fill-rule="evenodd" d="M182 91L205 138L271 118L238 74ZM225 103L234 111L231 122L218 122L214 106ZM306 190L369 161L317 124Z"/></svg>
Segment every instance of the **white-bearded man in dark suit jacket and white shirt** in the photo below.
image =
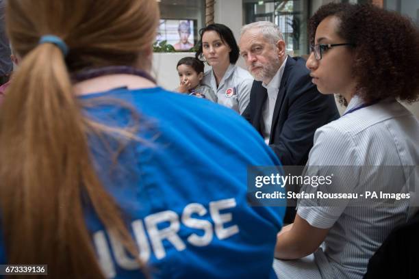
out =
<svg viewBox="0 0 419 279"><path fill-rule="evenodd" d="M281 30L274 23L244 25L239 47L255 78L242 116L264 137L282 165L305 165L316 129L340 117L333 95L318 92L305 59L285 54ZM303 170L288 169L296 175ZM299 189L288 185L288 191L298 193ZM284 222L291 223L296 200L287 202Z"/></svg>

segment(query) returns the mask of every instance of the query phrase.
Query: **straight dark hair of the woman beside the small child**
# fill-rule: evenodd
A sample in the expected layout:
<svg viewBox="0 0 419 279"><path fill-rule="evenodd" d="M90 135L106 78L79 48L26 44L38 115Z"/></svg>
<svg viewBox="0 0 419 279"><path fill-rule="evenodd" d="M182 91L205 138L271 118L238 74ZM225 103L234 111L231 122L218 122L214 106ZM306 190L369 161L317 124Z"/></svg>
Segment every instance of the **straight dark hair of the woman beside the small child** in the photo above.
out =
<svg viewBox="0 0 419 279"><path fill-rule="evenodd" d="M230 63L236 64L239 57L240 50L238 48L236 39L234 38L233 31L231 31L229 27L220 23L213 23L199 30L198 51L196 51L195 53L196 59L200 59L201 61L203 61L202 36L206 31L216 31L218 33L221 40L225 44L227 44L231 49L230 54L229 54Z"/></svg>

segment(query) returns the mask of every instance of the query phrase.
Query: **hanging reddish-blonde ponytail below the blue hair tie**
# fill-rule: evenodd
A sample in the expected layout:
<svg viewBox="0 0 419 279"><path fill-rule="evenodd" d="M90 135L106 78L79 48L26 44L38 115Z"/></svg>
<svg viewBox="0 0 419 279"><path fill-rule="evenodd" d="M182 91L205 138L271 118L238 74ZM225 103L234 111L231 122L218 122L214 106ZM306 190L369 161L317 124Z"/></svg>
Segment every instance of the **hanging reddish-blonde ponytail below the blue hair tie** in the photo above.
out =
<svg viewBox="0 0 419 279"><path fill-rule="evenodd" d="M23 59L0 109L1 228L8 263L47 264L53 278L103 278L83 214L138 251L90 159L64 56L40 44Z"/></svg>

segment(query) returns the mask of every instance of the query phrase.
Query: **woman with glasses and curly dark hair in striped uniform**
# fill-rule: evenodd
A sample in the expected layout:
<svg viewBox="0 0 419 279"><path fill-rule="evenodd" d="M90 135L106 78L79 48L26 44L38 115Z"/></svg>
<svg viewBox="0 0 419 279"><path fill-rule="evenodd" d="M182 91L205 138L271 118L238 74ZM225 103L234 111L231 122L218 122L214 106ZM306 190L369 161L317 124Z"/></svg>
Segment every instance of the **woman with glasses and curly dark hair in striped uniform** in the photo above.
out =
<svg viewBox="0 0 419 279"><path fill-rule="evenodd" d="M397 101L419 97L418 29L395 12L344 3L322 6L309 28L313 83L348 106L314 135L305 176L331 182L303 185L307 196L275 248L276 258L294 261L274 267L279 278L362 278L418 205L419 122Z"/></svg>

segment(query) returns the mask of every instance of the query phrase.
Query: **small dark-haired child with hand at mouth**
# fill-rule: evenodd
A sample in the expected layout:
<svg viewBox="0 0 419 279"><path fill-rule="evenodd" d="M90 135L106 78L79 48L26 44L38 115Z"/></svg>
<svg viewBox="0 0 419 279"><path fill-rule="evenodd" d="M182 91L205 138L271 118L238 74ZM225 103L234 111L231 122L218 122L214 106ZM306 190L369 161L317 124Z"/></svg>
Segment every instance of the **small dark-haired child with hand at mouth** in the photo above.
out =
<svg viewBox="0 0 419 279"><path fill-rule="evenodd" d="M214 91L207 86L201 85L203 78L204 64L195 57L183 57L177 62L177 72L179 73L180 85L175 90L199 98L207 98L217 103Z"/></svg>

